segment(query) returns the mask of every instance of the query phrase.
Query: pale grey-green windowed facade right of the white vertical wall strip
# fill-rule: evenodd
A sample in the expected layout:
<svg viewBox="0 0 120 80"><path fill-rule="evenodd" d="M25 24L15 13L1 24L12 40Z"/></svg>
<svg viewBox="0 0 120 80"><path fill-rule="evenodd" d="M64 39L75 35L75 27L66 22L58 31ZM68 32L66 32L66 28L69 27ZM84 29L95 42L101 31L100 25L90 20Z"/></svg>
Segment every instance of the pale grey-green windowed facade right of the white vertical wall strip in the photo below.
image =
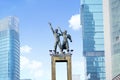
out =
<svg viewBox="0 0 120 80"><path fill-rule="evenodd" d="M120 76L120 0L109 1L112 39L112 77L114 78L118 75ZM117 78L114 80L117 80Z"/></svg>

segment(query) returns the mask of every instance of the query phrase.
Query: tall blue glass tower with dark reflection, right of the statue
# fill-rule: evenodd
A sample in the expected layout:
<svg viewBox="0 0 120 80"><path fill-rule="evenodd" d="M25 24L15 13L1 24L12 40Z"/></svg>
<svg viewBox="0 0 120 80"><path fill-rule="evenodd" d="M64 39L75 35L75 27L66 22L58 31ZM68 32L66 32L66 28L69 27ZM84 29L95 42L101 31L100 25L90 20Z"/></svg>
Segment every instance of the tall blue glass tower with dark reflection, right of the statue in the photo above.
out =
<svg viewBox="0 0 120 80"><path fill-rule="evenodd" d="M83 55L88 80L105 80L102 0L81 1Z"/></svg>

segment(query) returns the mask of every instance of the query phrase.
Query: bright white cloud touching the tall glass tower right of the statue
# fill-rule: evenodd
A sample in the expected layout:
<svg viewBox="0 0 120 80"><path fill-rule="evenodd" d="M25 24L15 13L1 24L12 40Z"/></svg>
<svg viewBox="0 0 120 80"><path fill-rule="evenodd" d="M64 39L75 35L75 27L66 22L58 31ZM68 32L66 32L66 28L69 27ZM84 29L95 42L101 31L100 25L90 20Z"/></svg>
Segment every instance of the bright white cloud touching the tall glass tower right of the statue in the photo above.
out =
<svg viewBox="0 0 120 80"><path fill-rule="evenodd" d="M73 30L79 30L80 29L80 14L72 15L70 18L69 27L71 27Z"/></svg>

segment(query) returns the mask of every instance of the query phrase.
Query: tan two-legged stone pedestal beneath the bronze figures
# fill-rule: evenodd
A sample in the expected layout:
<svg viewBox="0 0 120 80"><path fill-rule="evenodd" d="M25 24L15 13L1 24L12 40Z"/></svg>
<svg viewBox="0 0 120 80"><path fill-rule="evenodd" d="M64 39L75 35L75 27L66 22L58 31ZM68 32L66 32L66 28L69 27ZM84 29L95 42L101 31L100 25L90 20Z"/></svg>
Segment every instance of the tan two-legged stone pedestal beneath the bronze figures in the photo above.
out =
<svg viewBox="0 0 120 80"><path fill-rule="evenodd" d="M56 80L56 62L67 62L67 80L72 80L71 54L50 54L52 80Z"/></svg>

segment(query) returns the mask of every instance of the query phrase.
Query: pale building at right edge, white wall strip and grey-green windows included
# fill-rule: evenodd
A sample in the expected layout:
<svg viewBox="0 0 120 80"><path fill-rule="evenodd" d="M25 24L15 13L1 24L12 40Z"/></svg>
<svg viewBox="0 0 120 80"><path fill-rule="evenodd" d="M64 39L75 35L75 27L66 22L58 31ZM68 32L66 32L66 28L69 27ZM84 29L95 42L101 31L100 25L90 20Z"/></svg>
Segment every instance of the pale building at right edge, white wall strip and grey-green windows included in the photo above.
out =
<svg viewBox="0 0 120 80"><path fill-rule="evenodd" d="M106 80L120 80L120 0L103 1Z"/></svg>

